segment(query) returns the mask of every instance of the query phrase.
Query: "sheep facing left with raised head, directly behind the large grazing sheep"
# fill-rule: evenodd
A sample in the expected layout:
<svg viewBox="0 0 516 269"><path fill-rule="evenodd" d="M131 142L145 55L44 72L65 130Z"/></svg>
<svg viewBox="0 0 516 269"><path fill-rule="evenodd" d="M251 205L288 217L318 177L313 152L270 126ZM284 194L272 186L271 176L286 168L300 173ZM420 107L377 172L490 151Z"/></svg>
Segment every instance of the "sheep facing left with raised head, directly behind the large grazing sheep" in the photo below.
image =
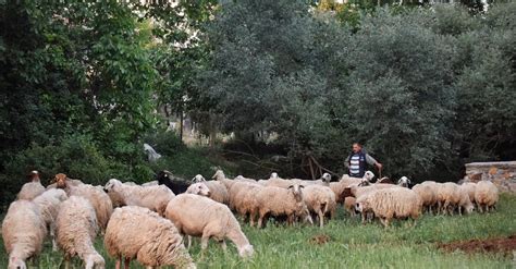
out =
<svg viewBox="0 0 516 269"><path fill-rule="evenodd" d="M164 215L169 200L175 197L167 186L127 186L116 179L109 180L105 189L108 193L118 193L127 206L146 207L160 216Z"/></svg>

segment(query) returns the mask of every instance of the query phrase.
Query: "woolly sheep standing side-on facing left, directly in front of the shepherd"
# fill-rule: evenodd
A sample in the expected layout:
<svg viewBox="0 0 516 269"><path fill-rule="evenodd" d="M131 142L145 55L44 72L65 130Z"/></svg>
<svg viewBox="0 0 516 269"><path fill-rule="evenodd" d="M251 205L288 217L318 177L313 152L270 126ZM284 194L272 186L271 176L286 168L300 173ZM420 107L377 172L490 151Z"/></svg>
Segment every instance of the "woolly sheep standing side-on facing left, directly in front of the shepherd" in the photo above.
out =
<svg viewBox="0 0 516 269"><path fill-rule="evenodd" d="M410 217L416 221L421 213L421 200L416 192L405 187L383 188L357 198L356 209L372 210L386 228L393 218Z"/></svg>

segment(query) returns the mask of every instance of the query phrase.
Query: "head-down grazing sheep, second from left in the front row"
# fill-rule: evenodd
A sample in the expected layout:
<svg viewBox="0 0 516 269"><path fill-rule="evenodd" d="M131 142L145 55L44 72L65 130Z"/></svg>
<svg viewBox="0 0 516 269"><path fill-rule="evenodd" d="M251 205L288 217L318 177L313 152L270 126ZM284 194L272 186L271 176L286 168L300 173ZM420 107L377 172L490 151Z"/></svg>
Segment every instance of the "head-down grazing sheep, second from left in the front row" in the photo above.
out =
<svg viewBox="0 0 516 269"><path fill-rule="evenodd" d="M56 221L58 246L64 252L65 268L78 256L86 269L103 269L106 262L94 247L98 225L95 209L81 196L72 195L61 204Z"/></svg>

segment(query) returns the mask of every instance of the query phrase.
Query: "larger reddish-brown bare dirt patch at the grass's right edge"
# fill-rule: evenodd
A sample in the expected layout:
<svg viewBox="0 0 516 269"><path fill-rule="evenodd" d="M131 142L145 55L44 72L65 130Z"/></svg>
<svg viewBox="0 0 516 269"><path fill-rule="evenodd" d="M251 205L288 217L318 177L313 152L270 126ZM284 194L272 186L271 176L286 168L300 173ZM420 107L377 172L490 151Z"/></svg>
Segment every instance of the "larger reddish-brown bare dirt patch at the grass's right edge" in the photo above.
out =
<svg viewBox="0 0 516 269"><path fill-rule="evenodd" d="M503 253L504 255L512 257L513 250L516 249L516 234L502 239L452 242L447 244L439 244L438 247L447 252L460 249L465 253Z"/></svg>

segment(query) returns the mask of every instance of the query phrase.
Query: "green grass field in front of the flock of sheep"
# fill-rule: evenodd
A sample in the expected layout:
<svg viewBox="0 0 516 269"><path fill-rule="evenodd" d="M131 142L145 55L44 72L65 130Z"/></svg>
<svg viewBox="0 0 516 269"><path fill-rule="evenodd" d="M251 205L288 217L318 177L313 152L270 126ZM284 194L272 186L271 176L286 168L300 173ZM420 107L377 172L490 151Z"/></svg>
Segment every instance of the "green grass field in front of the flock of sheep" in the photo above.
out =
<svg viewBox="0 0 516 269"><path fill-rule="evenodd" d="M496 212L472 213L467 217L423 216L416 224L394 222L383 229L378 222L361 225L343 212L324 229L317 227L282 227L269 224L265 230L244 227L255 246L255 256L248 260L237 257L233 245L223 253L210 242L200 255L195 241L191 254L198 268L516 268L516 257L502 254L445 253L435 247L470 239L488 239L516 234L516 196L502 195ZM130 232L127 232L130 235ZM322 235L322 236L321 236ZM328 242L316 243L314 237ZM3 243L2 243L3 245ZM97 241L97 249L107 258L107 268L114 268L114 260ZM0 268L7 268L7 254L0 253ZM60 253L52 253L50 243L34 268L59 268ZM81 261L75 260L76 268ZM142 268L133 262L132 268Z"/></svg>

